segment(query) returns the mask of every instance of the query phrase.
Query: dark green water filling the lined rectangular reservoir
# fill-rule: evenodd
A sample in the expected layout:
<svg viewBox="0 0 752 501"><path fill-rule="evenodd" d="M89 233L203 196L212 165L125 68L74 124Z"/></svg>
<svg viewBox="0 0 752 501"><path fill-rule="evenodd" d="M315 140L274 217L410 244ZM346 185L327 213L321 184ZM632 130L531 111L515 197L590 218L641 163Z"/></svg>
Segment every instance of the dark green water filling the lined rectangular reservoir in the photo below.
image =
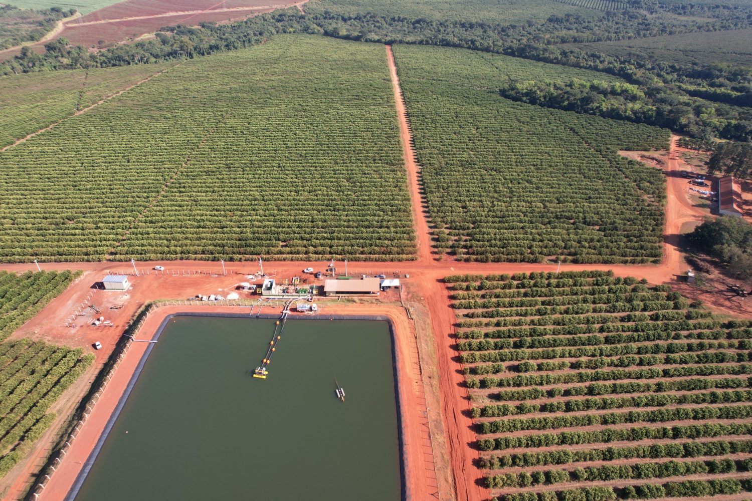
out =
<svg viewBox="0 0 752 501"><path fill-rule="evenodd" d="M76 501L399 500L387 323L287 321L268 379L253 379L273 330L174 318Z"/></svg>

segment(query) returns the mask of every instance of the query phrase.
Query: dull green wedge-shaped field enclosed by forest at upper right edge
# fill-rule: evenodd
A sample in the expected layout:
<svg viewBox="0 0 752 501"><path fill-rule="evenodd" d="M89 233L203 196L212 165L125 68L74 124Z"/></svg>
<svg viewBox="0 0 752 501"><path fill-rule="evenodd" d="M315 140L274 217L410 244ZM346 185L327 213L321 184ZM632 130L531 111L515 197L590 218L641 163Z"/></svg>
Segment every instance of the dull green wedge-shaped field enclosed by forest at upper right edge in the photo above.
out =
<svg viewBox="0 0 752 501"><path fill-rule="evenodd" d="M633 59L656 59L680 64L729 62L752 65L752 29L682 33L595 44L563 44L581 50Z"/></svg>

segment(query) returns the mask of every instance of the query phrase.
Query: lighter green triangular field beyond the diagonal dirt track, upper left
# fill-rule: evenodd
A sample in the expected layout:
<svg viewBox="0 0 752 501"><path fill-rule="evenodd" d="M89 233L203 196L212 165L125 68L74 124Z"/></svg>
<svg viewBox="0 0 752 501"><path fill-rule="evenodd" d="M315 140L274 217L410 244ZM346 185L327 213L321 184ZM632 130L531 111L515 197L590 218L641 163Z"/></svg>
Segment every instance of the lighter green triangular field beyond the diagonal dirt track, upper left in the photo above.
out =
<svg viewBox="0 0 752 501"><path fill-rule="evenodd" d="M25 73L0 78L0 147L138 83L175 63Z"/></svg>

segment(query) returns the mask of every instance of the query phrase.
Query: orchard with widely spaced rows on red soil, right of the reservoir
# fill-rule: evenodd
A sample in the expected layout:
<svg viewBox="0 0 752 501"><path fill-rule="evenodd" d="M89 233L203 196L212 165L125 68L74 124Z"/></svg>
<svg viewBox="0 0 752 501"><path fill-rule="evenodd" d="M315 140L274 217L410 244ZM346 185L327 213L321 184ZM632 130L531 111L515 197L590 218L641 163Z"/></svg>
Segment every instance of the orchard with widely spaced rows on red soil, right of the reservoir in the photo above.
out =
<svg viewBox="0 0 752 501"><path fill-rule="evenodd" d="M752 490L749 321L610 272L445 281L491 495Z"/></svg>

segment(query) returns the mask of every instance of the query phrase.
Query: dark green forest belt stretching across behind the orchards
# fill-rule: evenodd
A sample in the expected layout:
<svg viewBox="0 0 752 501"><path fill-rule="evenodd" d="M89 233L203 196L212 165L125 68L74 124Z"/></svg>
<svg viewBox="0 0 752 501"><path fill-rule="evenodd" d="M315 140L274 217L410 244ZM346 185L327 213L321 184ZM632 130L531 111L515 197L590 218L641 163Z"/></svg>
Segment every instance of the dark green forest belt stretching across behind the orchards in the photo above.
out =
<svg viewBox="0 0 752 501"><path fill-rule="evenodd" d="M602 71L630 86L602 83L529 82L501 89L502 95L541 106L644 122L693 137L752 139L752 69L735 65L677 65L606 56L556 44L644 38L666 33L708 32L752 26L752 9L723 5L660 5L648 0L593 19L554 15L543 22L471 23L314 10L275 11L238 23L165 27L150 41L122 44L98 53L71 47L64 38L44 54L24 47L0 62L0 74L94 68L190 59L262 43L280 33L308 33L384 44L429 44L501 53L541 62ZM670 15L669 15L670 14ZM683 17L684 16L684 17ZM691 16L691 17L690 17ZM699 18L701 20L699 20ZM635 92L636 89L636 92Z"/></svg>

